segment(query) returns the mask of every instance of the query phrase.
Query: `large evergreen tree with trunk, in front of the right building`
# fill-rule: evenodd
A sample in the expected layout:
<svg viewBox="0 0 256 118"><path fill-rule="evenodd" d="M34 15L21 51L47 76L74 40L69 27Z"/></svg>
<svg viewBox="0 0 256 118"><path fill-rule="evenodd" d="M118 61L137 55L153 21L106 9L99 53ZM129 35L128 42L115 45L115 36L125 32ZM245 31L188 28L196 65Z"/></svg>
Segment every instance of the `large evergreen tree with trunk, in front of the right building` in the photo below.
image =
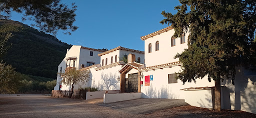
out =
<svg viewBox="0 0 256 118"><path fill-rule="evenodd" d="M162 11L160 23L171 23L174 36L188 31L188 48L177 54L183 63L178 78L185 82L208 77L215 81L215 106L220 110L220 80L234 82L236 66L255 65L255 0L179 0L176 14ZM190 10L187 8L190 7Z"/></svg>

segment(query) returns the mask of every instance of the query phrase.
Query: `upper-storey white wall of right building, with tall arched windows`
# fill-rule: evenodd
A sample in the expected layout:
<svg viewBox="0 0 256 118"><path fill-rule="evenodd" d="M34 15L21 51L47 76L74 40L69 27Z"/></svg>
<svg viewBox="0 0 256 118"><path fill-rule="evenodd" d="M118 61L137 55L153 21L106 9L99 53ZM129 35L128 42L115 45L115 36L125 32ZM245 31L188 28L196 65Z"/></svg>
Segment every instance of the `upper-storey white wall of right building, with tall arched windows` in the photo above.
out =
<svg viewBox="0 0 256 118"><path fill-rule="evenodd" d="M178 58L174 58L174 56L182 52L184 48L187 48L187 36L189 33L185 33L185 43L180 44L180 37L178 37L175 39L175 46L171 46L171 36L173 34L174 29L171 29L144 40L146 67L178 61ZM156 41L159 41L159 50L157 51L155 50ZM150 53L148 53L149 43L152 45L152 52Z"/></svg>

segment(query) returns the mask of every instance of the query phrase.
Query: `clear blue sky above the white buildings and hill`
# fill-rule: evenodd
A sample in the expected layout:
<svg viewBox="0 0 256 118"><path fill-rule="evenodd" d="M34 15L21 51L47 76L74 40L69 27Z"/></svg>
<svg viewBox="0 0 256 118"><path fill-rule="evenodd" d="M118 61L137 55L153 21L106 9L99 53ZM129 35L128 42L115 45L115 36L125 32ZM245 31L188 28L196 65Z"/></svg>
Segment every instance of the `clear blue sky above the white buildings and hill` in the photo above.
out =
<svg viewBox="0 0 256 118"><path fill-rule="evenodd" d="M117 46L144 50L140 36L167 27L160 24L161 11L176 13L178 0L62 0L77 5L76 21L79 28L71 35L60 30L56 37L68 44L91 48L112 49ZM20 14L12 13L12 20L21 21ZM23 22L31 24L31 21Z"/></svg>

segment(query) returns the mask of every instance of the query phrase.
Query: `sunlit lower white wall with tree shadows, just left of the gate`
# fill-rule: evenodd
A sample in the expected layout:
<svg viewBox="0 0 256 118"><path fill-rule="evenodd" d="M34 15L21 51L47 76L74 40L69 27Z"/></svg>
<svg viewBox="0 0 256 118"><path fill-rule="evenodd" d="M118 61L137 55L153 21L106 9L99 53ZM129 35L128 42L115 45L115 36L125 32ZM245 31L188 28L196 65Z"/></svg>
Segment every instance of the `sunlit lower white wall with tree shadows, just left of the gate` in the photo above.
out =
<svg viewBox="0 0 256 118"><path fill-rule="evenodd" d="M120 74L118 72L123 65L116 65L100 70L95 70L90 68L91 76L91 86L98 87L99 90L118 90L120 89Z"/></svg>

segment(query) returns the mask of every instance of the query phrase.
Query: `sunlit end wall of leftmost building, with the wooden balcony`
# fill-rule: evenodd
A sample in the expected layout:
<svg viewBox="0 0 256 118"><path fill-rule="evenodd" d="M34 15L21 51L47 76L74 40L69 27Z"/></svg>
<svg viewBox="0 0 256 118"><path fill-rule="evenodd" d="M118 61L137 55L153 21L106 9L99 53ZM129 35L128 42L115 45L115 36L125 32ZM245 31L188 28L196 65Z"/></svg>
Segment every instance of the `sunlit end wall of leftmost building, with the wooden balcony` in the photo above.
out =
<svg viewBox="0 0 256 118"><path fill-rule="evenodd" d="M63 60L60 62L60 64L58 65L58 73L60 73L60 67L62 67L62 73L65 72L65 68L66 68L66 59L67 57L71 57L71 56L76 56L77 60L78 60L78 56L79 56L79 51L80 51L80 45L73 45L67 52L65 57L63 58ZM74 63L75 67L78 65L77 64L77 60ZM67 64L69 65L69 61L67 62ZM70 66L73 66L73 61L70 61ZM57 75L57 83L54 87L54 90L59 90L59 84L61 84L61 88L60 90L68 90L70 89L69 86L63 85L62 83L59 83L61 81L61 77L59 77L59 74Z"/></svg>

